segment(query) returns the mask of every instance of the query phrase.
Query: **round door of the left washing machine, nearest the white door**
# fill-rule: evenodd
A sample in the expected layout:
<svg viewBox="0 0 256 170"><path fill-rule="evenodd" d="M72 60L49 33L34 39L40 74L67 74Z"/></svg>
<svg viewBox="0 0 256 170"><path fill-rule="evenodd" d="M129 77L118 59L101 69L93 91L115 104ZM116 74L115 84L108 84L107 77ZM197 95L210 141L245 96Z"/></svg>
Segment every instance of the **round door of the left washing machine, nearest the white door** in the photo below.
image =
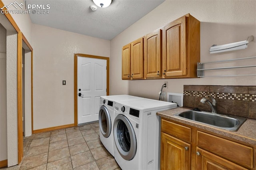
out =
<svg viewBox="0 0 256 170"><path fill-rule="evenodd" d="M108 138L111 133L111 119L108 109L103 105L100 107L99 124L102 135Z"/></svg>

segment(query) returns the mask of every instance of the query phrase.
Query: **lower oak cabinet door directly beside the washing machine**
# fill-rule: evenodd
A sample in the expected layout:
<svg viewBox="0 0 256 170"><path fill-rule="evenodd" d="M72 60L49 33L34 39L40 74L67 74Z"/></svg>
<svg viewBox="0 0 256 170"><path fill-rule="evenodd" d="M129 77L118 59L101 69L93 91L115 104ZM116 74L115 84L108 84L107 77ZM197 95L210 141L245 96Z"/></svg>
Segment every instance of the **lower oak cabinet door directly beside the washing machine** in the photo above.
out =
<svg viewBox="0 0 256 170"><path fill-rule="evenodd" d="M189 170L190 144L161 133L161 170Z"/></svg>

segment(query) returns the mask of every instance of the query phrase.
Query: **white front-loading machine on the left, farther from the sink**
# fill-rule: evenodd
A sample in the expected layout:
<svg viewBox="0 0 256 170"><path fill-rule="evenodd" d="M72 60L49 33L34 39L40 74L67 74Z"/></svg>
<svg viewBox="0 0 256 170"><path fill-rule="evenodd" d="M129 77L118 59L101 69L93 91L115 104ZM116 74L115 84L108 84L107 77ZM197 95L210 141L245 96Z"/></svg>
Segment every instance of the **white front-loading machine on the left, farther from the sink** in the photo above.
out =
<svg viewBox="0 0 256 170"><path fill-rule="evenodd" d="M100 97L99 110L99 127L100 127L100 141L105 148L114 156L114 137L113 137L113 123L114 123L114 101L126 101L134 99L143 99L141 97L130 95L112 95Z"/></svg>

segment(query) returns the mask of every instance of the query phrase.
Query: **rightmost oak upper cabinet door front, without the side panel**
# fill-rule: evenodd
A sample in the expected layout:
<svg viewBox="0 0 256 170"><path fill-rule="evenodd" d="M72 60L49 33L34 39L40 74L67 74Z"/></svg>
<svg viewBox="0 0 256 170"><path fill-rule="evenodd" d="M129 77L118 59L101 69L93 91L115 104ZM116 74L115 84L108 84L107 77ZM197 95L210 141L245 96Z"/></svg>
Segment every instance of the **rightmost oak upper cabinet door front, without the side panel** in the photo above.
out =
<svg viewBox="0 0 256 170"><path fill-rule="evenodd" d="M163 29L163 78L186 75L186 16Z"/></svg>

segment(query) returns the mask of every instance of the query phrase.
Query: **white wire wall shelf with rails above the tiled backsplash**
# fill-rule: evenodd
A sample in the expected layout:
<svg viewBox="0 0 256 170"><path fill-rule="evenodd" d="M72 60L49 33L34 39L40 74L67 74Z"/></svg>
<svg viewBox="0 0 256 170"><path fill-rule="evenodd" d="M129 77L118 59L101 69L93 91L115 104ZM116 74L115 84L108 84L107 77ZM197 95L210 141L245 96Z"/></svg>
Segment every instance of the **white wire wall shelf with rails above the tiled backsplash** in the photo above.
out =
<svg viewBox="0 0 256 170"><path fill-rule="evenodd" d="M245 58L238 58L238 59L226 59L226 60L219 60L219 61L208 61L208 62L204 62L204 63L197 63L197 77L227 77L227 76L252 76L252 75L256 75L256 74L247 74L247 75L204 75L204 71L209 71L209 70L256 67L256 65L244 65L244 66L234 66L234 67L204 68L205 64L228 62L228 61L238 61L238 60L244 60L244 59L256 59L256 57L245 57Z"/></svg>

